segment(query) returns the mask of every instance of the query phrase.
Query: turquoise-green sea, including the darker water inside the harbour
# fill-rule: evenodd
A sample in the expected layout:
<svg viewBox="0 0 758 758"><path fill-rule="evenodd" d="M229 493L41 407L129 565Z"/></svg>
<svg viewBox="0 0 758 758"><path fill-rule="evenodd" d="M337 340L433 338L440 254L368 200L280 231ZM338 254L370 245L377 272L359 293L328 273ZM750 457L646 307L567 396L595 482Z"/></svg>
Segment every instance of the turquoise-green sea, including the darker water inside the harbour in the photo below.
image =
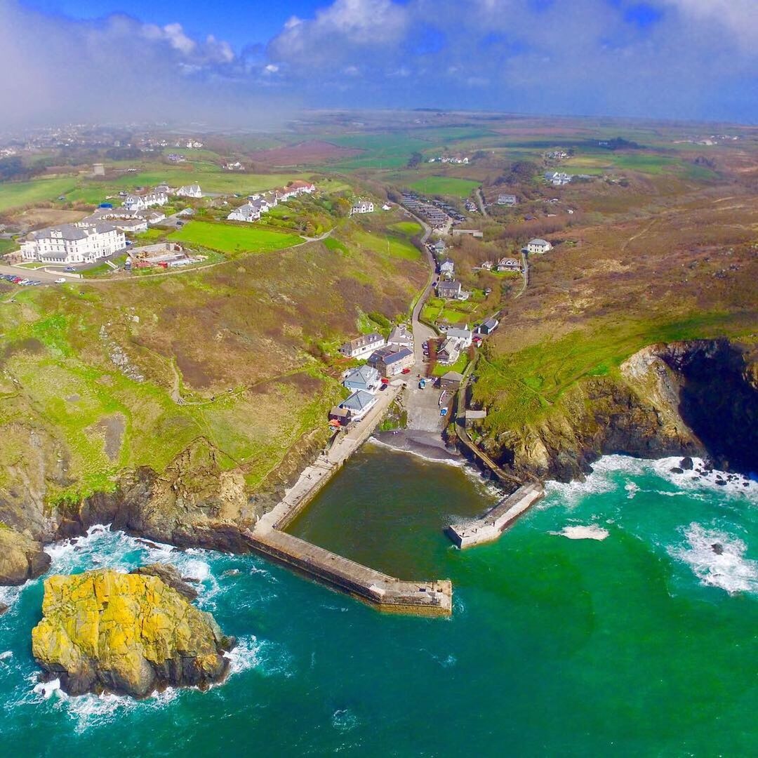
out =
<svg viewBox="0 0 758 758"><path fill-rule="evenodd" d="M174 563L238 637L232 673L207 693L68 698L37 684L30 656L42 582L0 589L0 755L753 755L758 484L672 465L606 457L460 552L443 526L496 493L365 446L292 531L403 578L451 578L446 620L93 528L49 549L52 571Z"/></svg>

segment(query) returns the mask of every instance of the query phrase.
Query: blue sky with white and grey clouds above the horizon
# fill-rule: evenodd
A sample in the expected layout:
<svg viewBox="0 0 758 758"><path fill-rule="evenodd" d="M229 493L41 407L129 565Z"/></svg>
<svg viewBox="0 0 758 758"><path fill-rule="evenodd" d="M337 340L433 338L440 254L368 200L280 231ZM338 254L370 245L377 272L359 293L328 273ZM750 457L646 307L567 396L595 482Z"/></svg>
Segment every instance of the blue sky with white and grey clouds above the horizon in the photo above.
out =
<svg viewBox="0 0 758 758"><path fill-rule="evenodd" d="M299 108L756 124L758 0L0 0L0 64L0 127L267 128Z"/></svg>

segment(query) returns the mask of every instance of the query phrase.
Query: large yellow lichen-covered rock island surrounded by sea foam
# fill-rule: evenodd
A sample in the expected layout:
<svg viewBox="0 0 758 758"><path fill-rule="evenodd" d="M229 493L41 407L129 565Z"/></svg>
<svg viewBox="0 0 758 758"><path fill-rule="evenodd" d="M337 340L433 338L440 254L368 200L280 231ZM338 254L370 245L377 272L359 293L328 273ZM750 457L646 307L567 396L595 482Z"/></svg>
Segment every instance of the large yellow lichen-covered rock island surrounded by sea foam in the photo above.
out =
<svg viewBox="0 0 758 758"><path fill-rule="evenodd" d="M109 569L46 579L32 631L35 659L70 695L207 688L227 675L230 645L209 613L158 576Z"/></svg>

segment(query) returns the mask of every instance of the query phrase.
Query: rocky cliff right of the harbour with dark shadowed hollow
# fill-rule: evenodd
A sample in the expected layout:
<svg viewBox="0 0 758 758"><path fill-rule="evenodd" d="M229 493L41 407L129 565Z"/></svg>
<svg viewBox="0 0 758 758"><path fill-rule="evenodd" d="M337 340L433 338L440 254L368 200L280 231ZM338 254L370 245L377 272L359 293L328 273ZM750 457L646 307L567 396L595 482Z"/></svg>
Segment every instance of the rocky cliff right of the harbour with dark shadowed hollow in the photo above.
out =
<svg viewBox="0 0 758 758"><path fill-rule="evenodd" d="M506 470L570 481L599 456L709 456L758 470L758 370L727 340L648 346L617 377L587 377L535 424L490 437Z"/></svg>

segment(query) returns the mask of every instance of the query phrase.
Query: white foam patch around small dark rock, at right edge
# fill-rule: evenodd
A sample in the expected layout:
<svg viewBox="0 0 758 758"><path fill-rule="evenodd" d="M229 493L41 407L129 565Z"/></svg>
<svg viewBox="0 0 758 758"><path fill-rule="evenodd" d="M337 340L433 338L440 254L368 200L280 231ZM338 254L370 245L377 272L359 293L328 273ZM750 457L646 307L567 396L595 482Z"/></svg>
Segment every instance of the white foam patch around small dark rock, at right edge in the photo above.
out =
<svg viewBox="0 0 758 758"><path fill-rule="evenodd" d="M745 557L747 545L734 534L692 523L681 530L687 545L669 548L686 563L701 584L728 593L758 593L758 561Z"/></svg>

